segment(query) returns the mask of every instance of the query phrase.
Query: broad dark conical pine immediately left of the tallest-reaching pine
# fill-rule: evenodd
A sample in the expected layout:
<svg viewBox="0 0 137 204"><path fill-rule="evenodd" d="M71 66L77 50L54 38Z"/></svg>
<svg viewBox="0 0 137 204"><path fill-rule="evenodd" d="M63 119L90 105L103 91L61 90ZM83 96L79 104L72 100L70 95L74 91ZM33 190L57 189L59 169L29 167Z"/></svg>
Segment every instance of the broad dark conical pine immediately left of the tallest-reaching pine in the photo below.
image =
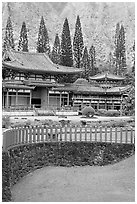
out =
<svg viewBox="0 0 137 204"><path fill-rule="evenodd" d="M73 66L72 45L68 19L65 19L63 24L62 38L61 38L61 64L63 66Z"/></svg>

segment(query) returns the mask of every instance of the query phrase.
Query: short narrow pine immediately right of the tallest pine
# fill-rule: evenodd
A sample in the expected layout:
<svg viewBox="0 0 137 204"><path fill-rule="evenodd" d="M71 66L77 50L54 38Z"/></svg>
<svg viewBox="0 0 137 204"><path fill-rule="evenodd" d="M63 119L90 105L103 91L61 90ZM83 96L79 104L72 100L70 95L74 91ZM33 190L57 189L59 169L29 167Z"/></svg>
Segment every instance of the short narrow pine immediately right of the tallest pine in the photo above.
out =
<svg viewBox="0 0 137 204"><path fill-rule="evenodd" d="M82 68L84 69L82 77L85 79L89 78L90 74L90 64L89 64L89 56L87 46L84 49L83 57L82 57Z"/></svg>

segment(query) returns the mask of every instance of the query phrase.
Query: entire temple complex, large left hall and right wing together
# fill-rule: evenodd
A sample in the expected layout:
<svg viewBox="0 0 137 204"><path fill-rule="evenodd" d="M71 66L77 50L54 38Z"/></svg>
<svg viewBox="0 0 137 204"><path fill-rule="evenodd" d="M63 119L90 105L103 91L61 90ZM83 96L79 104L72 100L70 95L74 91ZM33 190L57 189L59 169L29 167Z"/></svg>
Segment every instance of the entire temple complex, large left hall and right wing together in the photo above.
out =
<svg viewBox="0 0 137 204"><path fill-rule="evenodd" d="M9 50L2 66L3 108L81 110L90 105L94 109L120 110L130 89L123 85L124 77L107 72L89 77L89 81L78 78L74 83L61 84L61 76L73 77L82 69L56 65L45 53Z"/></svg>

